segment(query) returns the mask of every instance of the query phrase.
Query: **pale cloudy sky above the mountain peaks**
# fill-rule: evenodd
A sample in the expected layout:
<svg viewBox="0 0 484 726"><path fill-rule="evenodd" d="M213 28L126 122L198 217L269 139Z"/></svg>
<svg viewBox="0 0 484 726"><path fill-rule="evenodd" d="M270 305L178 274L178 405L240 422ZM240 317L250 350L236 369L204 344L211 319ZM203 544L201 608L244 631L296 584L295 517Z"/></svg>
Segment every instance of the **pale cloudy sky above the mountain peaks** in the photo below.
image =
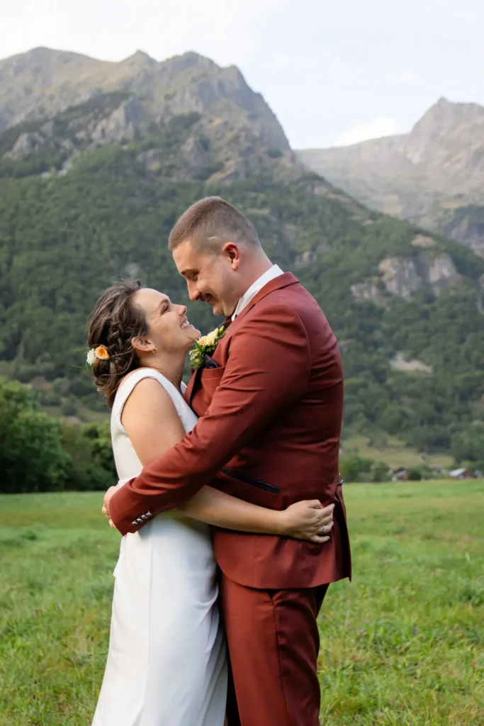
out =
<svg viewBox="0 0 484 726"><path fill-rule="evenodd" d="M0 0L0 58L193 50L237 65L302 149L406 133L442 96L484 105L483 28L483 0Z"/></svg>

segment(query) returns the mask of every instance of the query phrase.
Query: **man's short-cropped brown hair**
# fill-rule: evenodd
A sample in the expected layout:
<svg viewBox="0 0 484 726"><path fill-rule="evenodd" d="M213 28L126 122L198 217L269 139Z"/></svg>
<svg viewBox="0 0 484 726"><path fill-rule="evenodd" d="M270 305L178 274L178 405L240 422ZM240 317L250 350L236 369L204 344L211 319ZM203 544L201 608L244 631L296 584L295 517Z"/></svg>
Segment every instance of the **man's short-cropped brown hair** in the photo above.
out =
<svg viewBox="0 0 484 726"><path fill-rule="evenodd" d="M204 251L217 250L226 242L261 246L252 222L221 197L205 197L181 215L168 237L168 248L174 250L184 240Z"/></svg>

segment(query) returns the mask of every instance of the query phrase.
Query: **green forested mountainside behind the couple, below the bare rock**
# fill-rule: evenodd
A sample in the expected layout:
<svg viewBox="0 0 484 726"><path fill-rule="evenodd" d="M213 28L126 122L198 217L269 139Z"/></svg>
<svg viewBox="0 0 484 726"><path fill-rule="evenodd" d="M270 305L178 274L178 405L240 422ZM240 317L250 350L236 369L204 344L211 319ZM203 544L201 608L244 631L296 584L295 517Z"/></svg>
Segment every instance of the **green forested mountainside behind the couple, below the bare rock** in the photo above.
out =
<svg viewBox="0 0 484 726"><path fill-rule="evenodd" d="M323 306L343 350L348 424L378 426L431 449L451 446L482 420L484 261L438 240L430 253L448 254L452 284L432 290L415 272L417 289L406 299L389 291L379 264L422 257L411 225L369 213L316 176L284 184L261 174L223 188L171 181L136 162L136 150L116 146L86 156L66 176L0 180L4 372L54 382L44 386L47 403L70 393L101 407L83 370L86 316L97 294L124 274L186 300L168 232L187 205L213 193L250 216L271 258ZM190 308L203 330L213 327L209 309ZM398 351L432 372L391 367Z"/></svg>

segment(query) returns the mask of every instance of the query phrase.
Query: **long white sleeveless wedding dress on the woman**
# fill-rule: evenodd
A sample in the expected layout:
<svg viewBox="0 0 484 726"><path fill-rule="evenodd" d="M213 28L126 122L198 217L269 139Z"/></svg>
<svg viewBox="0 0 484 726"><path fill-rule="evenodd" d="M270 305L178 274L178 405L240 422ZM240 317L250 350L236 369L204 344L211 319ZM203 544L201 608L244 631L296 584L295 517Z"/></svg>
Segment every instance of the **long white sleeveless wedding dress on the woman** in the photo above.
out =
<svg viewBox="0 0 484 726"><path fill-rule="evenodd" d="M132 374L112 407L118 486L142 468L121 413L143 378L155 378L168 391L185 431L197 423L163 375L147 368ZM110 648L92 726L223 726L226 646L217 595L207 525L167 512L123 537Z"/></svg>

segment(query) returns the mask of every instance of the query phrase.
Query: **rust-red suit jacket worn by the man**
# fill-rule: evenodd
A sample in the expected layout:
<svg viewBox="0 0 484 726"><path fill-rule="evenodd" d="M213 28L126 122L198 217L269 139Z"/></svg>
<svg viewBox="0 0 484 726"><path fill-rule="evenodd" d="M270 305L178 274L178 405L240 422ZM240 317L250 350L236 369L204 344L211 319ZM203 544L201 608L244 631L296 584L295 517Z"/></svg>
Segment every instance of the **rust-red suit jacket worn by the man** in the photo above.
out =
<svg viewBox="0 0 484 726"><path fill-rule="evenodd" d="M214 530L226 576L247 587L313 587L350 576L345 505L338 484L343 369L318 303L291 273L271 280L231 323L213 358L192 376L193 431L120 488L115 525L171 510L210 483L281 510L300 499L335 502L325 544ZM213 480L213 481L210 481Z"/></svg>

